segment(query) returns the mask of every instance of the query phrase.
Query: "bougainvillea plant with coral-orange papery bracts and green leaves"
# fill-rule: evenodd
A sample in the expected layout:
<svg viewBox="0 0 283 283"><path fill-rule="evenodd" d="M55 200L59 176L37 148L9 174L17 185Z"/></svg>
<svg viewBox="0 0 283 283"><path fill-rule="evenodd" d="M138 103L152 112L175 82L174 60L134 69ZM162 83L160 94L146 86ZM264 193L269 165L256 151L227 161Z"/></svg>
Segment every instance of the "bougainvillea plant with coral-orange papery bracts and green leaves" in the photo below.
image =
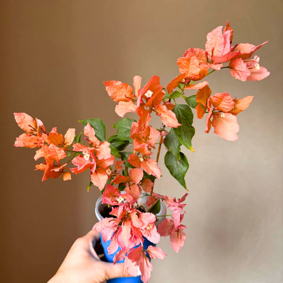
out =
<svg viewBox="0 0 283 283"><path fill-rule="evenodd" d="M184 230L187 227L181 222L185 215L187 192L177 200L153 192L155 179L161 177L158 159L162 144L167 151L164 158L166 167L187 190L184 177L189 164L181 152L181 146L194 151L191 143L195 134L192 108L196 109L199 119L207 114L205 132L208 133L212 126L221 138L235 141L239 131L237 115L253 99L253 96L233 99L226 92L211 95L208 82L202 80L212 72L225 68L241 81L262 80L269 75L259 65L260 58L254 56L254 52L266 42L258 46L243 43L232 46L232 39L233 30L229 22L223 33L222 26L208 33L205 50L190 48L183 57L178 58L180 75L166 89L160 85L158 76L153 76L143 87L141 77L134 76L134 90L127 83L104 82L109 96L118 102L115 112L120 117L123 118L128 112L136 112L139 116L138 121L128 118L119 120L113 126L117 128L117 135L110 136L108 140L105 125L99 119L80 121L85 126L83 134L87 145L84 145L82 133L76 135L74 128L68 129L63 136L56 127L48 132L37 118L34 120L25 113L14 113L19 127L25 131L16 139L15 146L38 148L34 159L45 159L35 166L35 170L44 172L42 181L56 179L60 175L66 181L71 179L71 173L90 173L88 190L92 185L97 186L103 193L102 203L113 206L110 213L113 217L102 219L94 229L101 232L104 242L111 239L108 254L121 247L114 263L125 259L125 265L133 276L137 275L138 266L143 282L149 280L153 268L146 255L159 259L166 256L155 246L144 249L144 238L156 244L160 236L169 236L175 252L179 252L186 239ZM226 67L225 63L228 63ZM186 96L185 90L188 90L189 96ZM190 95L193 91L196 94ZM177 98L183 103L177 102ZM149 125L154 113L161 119L160 129ZM125 151L129 145L133 146L133 151ZM152 151L155 148L157 156L154 159ZM135 206L142 190L148 195L147 212ZM166 203L172 215L156 227L155 214L160 211L160 201Z"/></svg>

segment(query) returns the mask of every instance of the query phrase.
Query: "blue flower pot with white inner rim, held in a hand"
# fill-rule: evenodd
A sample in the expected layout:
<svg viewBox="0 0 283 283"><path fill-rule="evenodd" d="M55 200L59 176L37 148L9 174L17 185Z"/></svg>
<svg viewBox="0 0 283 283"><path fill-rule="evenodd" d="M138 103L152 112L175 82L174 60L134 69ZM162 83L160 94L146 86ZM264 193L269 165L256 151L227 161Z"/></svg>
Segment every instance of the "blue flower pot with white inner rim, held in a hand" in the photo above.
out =
<svg viewBox="0 0 283 283"><path fill-rule="evenodd" d="M142 202L142 203L145 203L146 200L147 200L147 197L146 194L144 192L142 192L142 195L141 195L141 198L139 199L139 203ZM165 204L163 201L160 202L161 204L161 208L160 208L160 211L159 213L156 214L156 216L160 216L160 217L156 217L157 218L157 221L155 222L155 225L158 226L158 224L160 222L162 222L165 218L165 216L162 216L162 215L166 215L166 211L164 211L164 209L166 208ZM102 209L104 208L104 206L107 205L107 204L102 204L102 196L100 196L100 198L98 198L97 202L96 202L96 205L95 205L95 215L97 217L97 219L100 221L101 219L103 219L102 215L100 214L100 212L102 211ZM164 211L164 212L163 212ZM103 250L104 250L104 255L105 255L105 258L108 262L113 262L113 258L115 256L115 254L121 250L121 248L119 247L118 250L113 253L113 254L108 254L107 252L107 248L108 246L110 245L110 242L111 240L109 241L106 241L105 243L103 242L102 240L102 237L101 237L101 234L100 234L100 239L101 239L101 244L102 244L102 247L103 247ZM143 242L143 246L145 249L147 249L148 246L156 246L156 244L154 243L151 243L149 240L147 240L146 238L143 238L144 239L144 242ZM149 258L149 256L147 255L147 257ZM117 262L124 262L124 260L122 261L117 261ZM124 278L114 278L114 279L110 279L107 281L107 283L143 283L141 281L141 276L140 276L140 271L138 270L138 276L136 277L124 277Z"/></svg>

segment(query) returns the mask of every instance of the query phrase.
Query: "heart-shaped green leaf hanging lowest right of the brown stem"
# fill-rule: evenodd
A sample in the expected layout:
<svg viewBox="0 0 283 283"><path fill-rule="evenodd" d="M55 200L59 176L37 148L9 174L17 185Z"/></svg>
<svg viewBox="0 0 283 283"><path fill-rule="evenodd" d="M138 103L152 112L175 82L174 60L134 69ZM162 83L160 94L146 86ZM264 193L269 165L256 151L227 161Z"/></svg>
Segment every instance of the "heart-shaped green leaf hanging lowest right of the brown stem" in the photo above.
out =
<svg viewBox="0 0 283 283"><path fill-rule="evenodd" d="M181 159L178 160L170 151L167 151L164 162L170 174L186 189L185 175L188 171L188 159L184 153L180 153Z"/></svg>

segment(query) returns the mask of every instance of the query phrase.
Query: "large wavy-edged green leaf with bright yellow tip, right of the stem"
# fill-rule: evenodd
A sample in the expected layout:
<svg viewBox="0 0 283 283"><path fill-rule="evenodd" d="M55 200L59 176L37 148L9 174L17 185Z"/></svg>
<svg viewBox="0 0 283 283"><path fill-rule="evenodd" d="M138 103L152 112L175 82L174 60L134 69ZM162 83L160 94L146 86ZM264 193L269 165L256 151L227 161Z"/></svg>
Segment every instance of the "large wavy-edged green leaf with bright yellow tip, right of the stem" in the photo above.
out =
<svg viewBox="0 0 283 283"><path fill-rule="evenodd" d="M185 145L186 148L194 151L192 148L192 138L195 134L195 128L192 126L194 114L191 108L186 104L175 104L172 110L181 126L174 128L181 144Z"/></svg>

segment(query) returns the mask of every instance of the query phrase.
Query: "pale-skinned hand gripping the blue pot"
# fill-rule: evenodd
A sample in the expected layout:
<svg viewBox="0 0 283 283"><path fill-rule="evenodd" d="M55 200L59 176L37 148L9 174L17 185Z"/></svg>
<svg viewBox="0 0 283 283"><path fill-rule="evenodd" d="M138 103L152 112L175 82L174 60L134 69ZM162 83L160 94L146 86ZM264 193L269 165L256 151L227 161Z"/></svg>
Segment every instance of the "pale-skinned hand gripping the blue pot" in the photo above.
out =
<svg viewBox="0 0 283 283"><path fill-rule="evenodd" d="M99 241L100 234L95 230L78 238L57 273L47 283L102 283L111 278L131 276L124 263L113 265L100 260L94 248Z"/></svg>

